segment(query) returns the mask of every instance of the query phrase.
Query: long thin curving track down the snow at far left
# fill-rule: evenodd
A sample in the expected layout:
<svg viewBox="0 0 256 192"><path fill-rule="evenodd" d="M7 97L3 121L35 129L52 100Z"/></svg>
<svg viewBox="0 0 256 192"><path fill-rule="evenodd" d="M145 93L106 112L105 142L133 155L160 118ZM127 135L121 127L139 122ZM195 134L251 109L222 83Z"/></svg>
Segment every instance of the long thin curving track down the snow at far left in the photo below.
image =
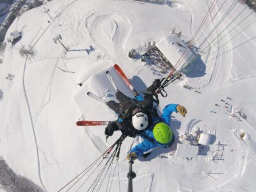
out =
<svg viewBox="0 0 256 192"><path fill-rule="evenodd" d="M41 177L41 169L40 169L40 157L39 157L39 150L38 150L38 142L36 139L36 132L35 132L35 127L33 124L33 117L32 117L32 113L31 113L31 109L30 109L30 105L29 105L29 101L28 101L28 96L26 93L26 86L25 86L25 73L26 73L26 65L27 65L27 61L28 61L28 56L26 57L26 61L24 63L24 70L23 70L23 75L22 75L22 85L23 85L23 91L24 91L24 96L28 105L28 111L29 111L29 118L31 121L31 127L32 127L32 131L33 131L33 136L34 136L34 140L35 140L35 145L36 145L36 156L37 156L37 162L38 162L38 177L40 180L40 183L42 184L42 187L44 188L44 191L47 191L45 189L44 183L42 181L42 177Z"/></svg>

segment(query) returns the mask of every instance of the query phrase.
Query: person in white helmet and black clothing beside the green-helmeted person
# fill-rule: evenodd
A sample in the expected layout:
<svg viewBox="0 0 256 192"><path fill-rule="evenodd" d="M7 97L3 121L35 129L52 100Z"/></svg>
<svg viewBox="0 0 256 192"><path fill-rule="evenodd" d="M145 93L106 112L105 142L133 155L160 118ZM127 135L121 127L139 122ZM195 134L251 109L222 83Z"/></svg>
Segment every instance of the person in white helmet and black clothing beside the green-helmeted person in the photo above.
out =
<svg viewBox="0 0 256 192"><path fill-rule="evenodd" d="M120 117L115 122L111 122L105 128L105 134L112 136L114 131L120 130L123 134L134 138L144 129L147 129L152 124L152 113L154 110L153 93L161 86L161 81L156 79L151 86L142 94L136 95L134 99L127 97L119 90L116 92L116 99L109 100L107 105L110 109L120 114Z"/></svg>

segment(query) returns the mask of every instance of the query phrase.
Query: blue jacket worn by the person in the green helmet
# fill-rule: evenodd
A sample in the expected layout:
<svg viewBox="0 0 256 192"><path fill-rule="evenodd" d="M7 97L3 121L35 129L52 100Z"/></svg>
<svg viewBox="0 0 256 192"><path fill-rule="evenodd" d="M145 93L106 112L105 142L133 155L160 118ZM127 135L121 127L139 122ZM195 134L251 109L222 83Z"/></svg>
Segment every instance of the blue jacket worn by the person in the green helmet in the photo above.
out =
<svg viewBox="0 0 256 192"><path fill-rule="evenodd" d="M135 147L133 147L131 152L136 152L137 156L141 156L141 154L143 154L144 152L147 152L148 150L155 147L163 147L163 148L170 147L174 141L174 135L172 140L169 143L162 144L156 141L152 131L153 131L154 124L156 122L164 122L167 125L170 125L170 118L171 118L172 112L175 111L177 113L176 107L177 107L177 104L168 104L167 106L165 106L165 108L163 109L163 114L161 115L161 118L156 118L156 117L153 118L154 123L151 125L150 129L148 129L143 133L145 136L141 135L144 141L136 145Z"/></svg>

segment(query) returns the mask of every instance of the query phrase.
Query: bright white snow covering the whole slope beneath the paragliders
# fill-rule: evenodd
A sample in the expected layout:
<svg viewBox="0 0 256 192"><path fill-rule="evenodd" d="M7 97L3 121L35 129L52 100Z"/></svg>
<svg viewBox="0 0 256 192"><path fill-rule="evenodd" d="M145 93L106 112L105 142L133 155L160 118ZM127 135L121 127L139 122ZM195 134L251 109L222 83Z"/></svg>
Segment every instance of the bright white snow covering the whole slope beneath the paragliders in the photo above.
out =
<svg viewBox="0 0 256 192"><path fill-rule="evenodd" d="M15 45L6 45L0 63L0 155L15 173L42 189L58 191L65 186L120 136L115 132L106 141L104 127L76 126L79 119L116 119L111 109L86 93L115 99L115 90L105 74L109 70L118 79L114 63L122 67L138 91L164 77L154 74L146 63L129 59L128 52L144 52L148 42L159 42L173 28L182 31L181 38L187 42L212 2L54 0L16 18L6 40L15 30L22 31L22 38ZM228 0L211 22L222 2L214 6L196 45L205 40L232 3ZM168 97L159 97L160 111L173 103L185 106L188 114L184 118L173 113L171 127L176 140L171 148L157 148L147 159L134 162L134 191L254 191L256 42L255 38L246 40L256 34L256 15L249 17L252 10L246 8L234 20L244 6L238 3L200 47L203 50L209 45L189 74L166 88ZM221 38L218 34L223 30L221 35L227 36ZM54 43L53 38L58 35L69 51L58 41ZM218 43L211 43L216 36ZM240 45L243 42L246 44ZM20 56L23 45L33 49L28 58ZM184 82L190 88L184 88ZM117 86L132 97L122 81ZM226 103L233 109L226 108ZM242 112L246 118L239 115ZM198 132L214 136L214 143L195 145ZM125 156L132 141L133 138L126 138L120 152L122 191L127 190L129 164ZM134 145L138 141L136 138ZM177 146L183 149L180 154L191 152L189 158L175 156L179 152ZM96 176L95 173L93 177ZM88 189L92 182L89 179L79 191ZM119 190L118 175L111 190Z"/></svg>

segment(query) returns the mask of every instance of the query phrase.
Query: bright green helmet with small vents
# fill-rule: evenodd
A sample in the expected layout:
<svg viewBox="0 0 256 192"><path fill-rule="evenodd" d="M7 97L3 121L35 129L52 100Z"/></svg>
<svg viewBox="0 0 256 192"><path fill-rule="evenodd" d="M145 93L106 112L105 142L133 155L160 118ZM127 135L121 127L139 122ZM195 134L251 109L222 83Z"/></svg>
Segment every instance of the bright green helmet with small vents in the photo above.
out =
<svg viewBox="0 0 256 192"><path fill-rule="evenodd" d="M172 140L172 129L167 124L160 122L154 126L153 135L159 143L166 144Z"/></svg>

